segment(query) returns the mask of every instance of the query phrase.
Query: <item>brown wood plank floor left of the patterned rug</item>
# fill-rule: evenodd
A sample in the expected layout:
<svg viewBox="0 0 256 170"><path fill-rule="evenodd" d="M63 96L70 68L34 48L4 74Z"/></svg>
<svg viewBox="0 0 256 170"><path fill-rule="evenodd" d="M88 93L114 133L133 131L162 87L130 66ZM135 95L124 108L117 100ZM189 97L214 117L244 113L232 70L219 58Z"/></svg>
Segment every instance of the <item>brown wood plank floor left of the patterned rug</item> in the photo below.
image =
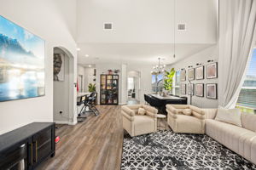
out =
<svg viewBox="0 0 256 170"><path fill-rule="evenodd" d="M98 106L100 116L90 115L75 126L60 126L55 157L38 169L120 169L123 128L119 105Z"/></svg>

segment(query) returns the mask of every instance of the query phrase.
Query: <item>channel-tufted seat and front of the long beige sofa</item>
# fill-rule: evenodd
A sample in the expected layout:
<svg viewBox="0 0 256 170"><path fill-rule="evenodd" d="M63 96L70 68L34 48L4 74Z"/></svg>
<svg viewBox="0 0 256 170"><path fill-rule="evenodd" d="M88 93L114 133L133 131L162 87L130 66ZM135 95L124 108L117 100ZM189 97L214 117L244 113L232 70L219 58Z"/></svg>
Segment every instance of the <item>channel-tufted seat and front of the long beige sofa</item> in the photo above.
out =
<svg viewBox="0 0 256 170"><path fill-rule="evenodd" d="M256 136L256 133L246 128L212 119L206 119L206 133L241 156L244 156L250 147L244 141L250 141Z"/></svg>

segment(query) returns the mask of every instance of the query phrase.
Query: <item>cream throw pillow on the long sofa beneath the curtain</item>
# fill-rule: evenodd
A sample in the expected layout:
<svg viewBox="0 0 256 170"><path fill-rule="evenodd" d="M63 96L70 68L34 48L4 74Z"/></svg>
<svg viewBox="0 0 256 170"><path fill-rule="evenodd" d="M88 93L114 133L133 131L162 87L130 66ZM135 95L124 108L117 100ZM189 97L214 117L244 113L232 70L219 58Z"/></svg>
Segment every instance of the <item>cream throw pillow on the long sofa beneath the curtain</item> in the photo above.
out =
<svg viewBox="0 0 256 170"><path fill-rule="evenodd" d="M241 111L239 109L224 109L223 107L219 107L215 120L228 122L241 127Z"/></svg>

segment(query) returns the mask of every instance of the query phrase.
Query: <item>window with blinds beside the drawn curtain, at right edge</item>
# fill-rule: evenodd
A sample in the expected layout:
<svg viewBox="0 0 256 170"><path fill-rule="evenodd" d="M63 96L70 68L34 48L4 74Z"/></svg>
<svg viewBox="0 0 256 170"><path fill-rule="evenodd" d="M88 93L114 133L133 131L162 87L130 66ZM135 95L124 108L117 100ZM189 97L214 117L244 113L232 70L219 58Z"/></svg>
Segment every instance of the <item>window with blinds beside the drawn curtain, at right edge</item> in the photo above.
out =
<svg viewBox="0 0 256 170"><path fill-rule="evenodd" d="M256 48L253 49L253 56L236 105L242 112L256 114Z"/></svg>

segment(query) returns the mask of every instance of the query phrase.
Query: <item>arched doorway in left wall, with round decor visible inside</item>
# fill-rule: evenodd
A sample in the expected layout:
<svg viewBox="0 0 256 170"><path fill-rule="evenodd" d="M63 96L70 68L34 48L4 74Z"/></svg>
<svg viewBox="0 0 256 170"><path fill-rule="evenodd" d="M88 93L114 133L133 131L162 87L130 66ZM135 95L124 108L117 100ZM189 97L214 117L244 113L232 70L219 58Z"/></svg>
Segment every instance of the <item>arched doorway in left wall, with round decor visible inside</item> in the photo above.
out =
<svg viewBox="0 0 256 170"><path fill-rule="evenodd" d="M74 85L74 58L62 47L54 48L54 122L76 124L76 87Z"/></svg>

